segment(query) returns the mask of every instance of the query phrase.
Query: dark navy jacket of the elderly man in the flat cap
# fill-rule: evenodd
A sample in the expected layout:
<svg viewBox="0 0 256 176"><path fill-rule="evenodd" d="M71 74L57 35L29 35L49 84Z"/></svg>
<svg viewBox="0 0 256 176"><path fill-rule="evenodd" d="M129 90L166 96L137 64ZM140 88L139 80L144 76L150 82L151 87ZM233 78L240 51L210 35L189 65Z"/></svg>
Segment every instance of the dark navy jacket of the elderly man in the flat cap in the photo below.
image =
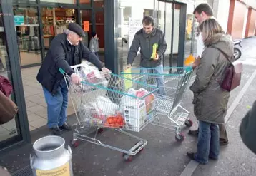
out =
<svg viewBox="0 0 256 176"><path fill-rule="evenodd" d="M89 51L82 42L79 42L78 46L72 46L67 40L67 35L61 33L51 41L51 46L44 58L36 79L44 88L54 95L59 83L64 78L59 72L59 68L62 68L71 76L74 71L70 66L80 64L82 58L93 63L99 70L103 68L103 64L99 61L99 58Z"/></svg>

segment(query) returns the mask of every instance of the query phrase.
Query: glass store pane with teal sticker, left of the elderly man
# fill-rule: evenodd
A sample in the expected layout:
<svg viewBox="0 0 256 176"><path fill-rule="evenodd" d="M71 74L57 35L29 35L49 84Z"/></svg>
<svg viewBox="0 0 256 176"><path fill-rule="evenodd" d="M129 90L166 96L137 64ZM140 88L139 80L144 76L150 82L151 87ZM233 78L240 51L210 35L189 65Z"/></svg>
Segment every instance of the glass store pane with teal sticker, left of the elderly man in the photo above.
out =
<svg viewBox="0 0 256 176"><path fill-rule="evenodd" d="M39 20L34 7L14 6L14 24L19 45L21 66L41 63Z"/></svg>

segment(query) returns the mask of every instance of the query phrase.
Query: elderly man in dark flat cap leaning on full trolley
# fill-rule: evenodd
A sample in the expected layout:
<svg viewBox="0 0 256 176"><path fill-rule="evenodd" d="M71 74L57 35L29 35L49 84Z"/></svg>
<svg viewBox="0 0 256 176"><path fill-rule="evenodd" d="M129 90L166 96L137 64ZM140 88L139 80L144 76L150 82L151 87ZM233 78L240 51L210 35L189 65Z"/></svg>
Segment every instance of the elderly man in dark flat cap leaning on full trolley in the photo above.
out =
<svg viewBox="0 0 256 176"><path fill-rule="evenodd" d="M68 88L59 68L71 77L72 83L80 83L79 76L71 66L82 62L82 58L93 63L100 71L109 72L99 58L84 46L82 41L84 31L81 26L70 23L64 33L57 35L52 41L44 58L37 81L41 83L47 103L48 127L54 135L60 135L62 130L72 130L67 120Z"/></svg>

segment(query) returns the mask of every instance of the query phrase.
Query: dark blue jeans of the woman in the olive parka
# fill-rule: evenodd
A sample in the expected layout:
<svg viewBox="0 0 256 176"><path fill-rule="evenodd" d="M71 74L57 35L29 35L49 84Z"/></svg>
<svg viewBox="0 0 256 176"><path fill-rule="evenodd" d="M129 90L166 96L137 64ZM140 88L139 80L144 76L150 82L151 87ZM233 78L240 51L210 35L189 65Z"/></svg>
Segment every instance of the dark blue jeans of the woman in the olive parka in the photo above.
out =
<svg viewBox="0 0 256 176"><path fill-rule="evenodd" d="M197 153L195 160L206 164L209 157L217 160L220 153L219 125L199 121L199 134L197 139Z"/></svg>

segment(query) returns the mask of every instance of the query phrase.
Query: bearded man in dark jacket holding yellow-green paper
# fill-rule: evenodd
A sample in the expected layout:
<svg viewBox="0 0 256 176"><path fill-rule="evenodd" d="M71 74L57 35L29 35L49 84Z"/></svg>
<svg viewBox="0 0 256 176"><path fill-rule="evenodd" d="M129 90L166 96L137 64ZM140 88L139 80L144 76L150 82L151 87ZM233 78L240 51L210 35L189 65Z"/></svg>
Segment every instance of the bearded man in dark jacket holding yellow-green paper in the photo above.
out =
<svg viewBox="0 0 256 176"><path fill-rule="evenodd" d="M132 67L134 58L140 48L140 66L141 72L148 71L147 68L152 68L154 73L163 73L162 62L164 52L167 48L167 43L164 38L164 33L154 27L154 19L151 16L144 16L142 20L143 29L135 33L132 41L132 46L129 49L127 58L127 69ZM156 51L154 51L156 49ZM144 68L144 69L143 69ZM162 76L157 76L157 86L159 87L158 94L165 95L164 80Z"/></svg>

